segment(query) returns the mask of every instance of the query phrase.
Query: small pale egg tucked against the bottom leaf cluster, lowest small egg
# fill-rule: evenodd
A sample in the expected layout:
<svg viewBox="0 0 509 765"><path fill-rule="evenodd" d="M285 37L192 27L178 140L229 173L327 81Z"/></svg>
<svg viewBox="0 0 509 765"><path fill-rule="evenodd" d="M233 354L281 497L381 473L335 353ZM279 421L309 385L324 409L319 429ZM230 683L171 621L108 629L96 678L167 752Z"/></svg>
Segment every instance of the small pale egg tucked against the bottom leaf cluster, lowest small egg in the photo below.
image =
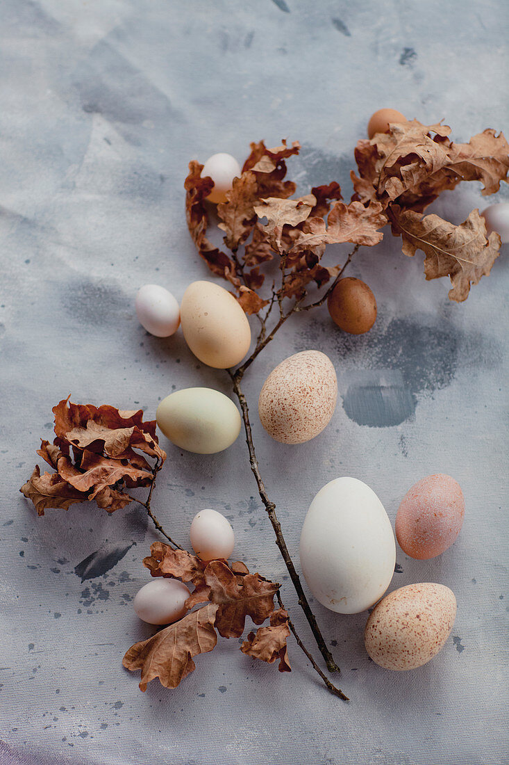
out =
<svg viewBox="0 0 509 765"><path fill-rule="evenodd" d="M178 579L157 578L144 584L135 597L135 612L148 624L171 624L186 613L190 591Z"/></svg>

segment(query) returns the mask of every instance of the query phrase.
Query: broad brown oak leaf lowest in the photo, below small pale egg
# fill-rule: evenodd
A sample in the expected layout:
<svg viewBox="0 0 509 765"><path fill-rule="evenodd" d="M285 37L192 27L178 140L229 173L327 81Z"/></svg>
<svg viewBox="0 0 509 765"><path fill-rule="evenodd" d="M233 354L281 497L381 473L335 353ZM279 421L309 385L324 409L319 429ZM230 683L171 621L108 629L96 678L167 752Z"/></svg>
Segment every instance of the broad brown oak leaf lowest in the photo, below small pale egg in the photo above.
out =
<svg viewBox="0 0 509 765"><path fill-rule="evenodd" d="M155 678L159 678L165 688L177 688L180 681L196 669L193 656L208 653L216 646L217 610L217 605L208 603L148 640L131 646L122 664L131 672L141 669L141 691L146 691L148 683Z"/></svg>

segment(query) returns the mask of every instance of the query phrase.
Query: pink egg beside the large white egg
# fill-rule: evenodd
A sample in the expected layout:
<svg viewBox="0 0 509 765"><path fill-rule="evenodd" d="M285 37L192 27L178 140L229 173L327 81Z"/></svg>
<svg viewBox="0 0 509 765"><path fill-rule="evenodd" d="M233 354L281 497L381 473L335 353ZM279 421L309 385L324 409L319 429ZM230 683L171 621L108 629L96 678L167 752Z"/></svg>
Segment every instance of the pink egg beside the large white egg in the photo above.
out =
<svg viewBox="0 0 509 765"><path fill-rule="evenodd" d="M410 558L435 558L455 542L464 515L465 500L454 478L439 473L418 480L397 510L400 548Z"/></svg>

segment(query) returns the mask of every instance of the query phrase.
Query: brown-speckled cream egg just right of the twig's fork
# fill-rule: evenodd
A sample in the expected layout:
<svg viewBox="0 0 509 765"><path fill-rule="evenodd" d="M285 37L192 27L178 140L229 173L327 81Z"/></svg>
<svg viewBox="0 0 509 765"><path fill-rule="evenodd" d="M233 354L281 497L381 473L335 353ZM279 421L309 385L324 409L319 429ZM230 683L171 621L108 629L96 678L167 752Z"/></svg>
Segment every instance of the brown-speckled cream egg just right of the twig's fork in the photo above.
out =
<svg viewBox="0 0 509 765"><path fill-rule="evenodd" d="M303 444L323 431L336 407L338 381L329 356L304 350L276 366L258 399L261 424L275 441Z"/></svg>

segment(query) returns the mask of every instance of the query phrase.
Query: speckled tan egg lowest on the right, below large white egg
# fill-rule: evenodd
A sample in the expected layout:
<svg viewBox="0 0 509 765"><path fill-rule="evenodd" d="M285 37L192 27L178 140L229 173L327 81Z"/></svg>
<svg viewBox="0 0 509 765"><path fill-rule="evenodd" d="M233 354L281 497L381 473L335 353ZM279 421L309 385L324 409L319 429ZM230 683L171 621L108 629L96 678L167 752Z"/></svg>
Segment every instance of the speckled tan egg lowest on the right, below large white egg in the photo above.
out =
<svg viewBox="0 0 509 765"><path fill-rule="evenodd" d="M416 669L446 643L456 618L456 597L443 584L409 584L384 597L364 631L369 656L385 669Z"/></svg>

